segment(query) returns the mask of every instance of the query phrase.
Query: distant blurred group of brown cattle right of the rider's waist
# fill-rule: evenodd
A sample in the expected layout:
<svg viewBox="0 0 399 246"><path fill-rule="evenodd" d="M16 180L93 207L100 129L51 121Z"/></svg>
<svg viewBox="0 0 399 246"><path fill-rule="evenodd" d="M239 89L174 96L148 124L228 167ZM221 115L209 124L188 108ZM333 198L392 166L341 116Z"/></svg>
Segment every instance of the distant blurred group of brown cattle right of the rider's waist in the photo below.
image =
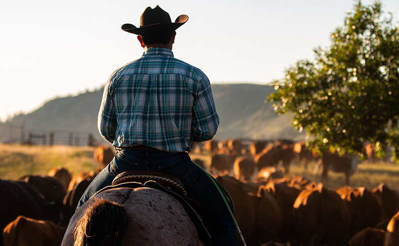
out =
<svg viewBox="0 0 399 246"><path fill-rule="evenodd" d="M271 171L280 170L289 173L291 163L295 160L306 169L311 162L316 167L322 168L322 182L328 181L328 172L333 170L343 172L346 183L355 172L359 158L337 152L325 152L323 156L306 147L304 141L294 142L288 139L273 141L250 141L244 144L240 139L228 139L224 141L206 141L203 146L195 148L197 152L206 152L210 156L208 165L200 159L199 162L204 169L212 174L232 174L239 180L250 181L271 175ZM370 153L370 156L373 154ZM266 176L265 176L266 175Z"/></svg>

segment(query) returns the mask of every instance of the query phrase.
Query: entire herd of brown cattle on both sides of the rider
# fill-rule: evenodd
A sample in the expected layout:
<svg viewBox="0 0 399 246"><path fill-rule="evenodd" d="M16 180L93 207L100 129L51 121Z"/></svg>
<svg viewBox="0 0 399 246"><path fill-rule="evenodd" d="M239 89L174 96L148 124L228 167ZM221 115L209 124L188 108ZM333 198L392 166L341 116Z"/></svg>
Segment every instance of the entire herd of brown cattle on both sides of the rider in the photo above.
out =
<svg viewBox="0 0 399 246"><path fill-rule="evenodd" d="M248 146L237 139L207 141L193 152L209 155L209 163L195 162L212 172L229 192L248 246L399 245L395 190L383 184L375 189L331 190L303 177L283 177L277 168L289 172L295 158L304 165L320 161L323 178L329 169L344 171L349 178L356 167L353 157L326 154L319 158L304 143L288 140L256 141ZM103 167L113 154L113 149L101 146L94 158ZM72 177L68 170L56 168L46 176L0 180L0 194L6 201L0 205L0 246L59 246L95 175Z"/></svg>

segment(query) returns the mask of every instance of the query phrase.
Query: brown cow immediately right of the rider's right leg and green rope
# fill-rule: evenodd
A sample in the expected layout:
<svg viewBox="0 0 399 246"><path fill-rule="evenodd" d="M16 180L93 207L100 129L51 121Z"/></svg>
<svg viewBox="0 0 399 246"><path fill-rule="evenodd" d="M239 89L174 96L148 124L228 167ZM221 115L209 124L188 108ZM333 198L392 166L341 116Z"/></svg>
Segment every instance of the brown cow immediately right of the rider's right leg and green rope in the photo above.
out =
<svg viewBox="0 0 399 246"><path fill-rule="evenodd" d="M232 176L217 176L216 180L230 194L234 204L234 216L245 241L252 235L255 226L255 211L251 197L244 191L243 184ZM241 241L239 235L237 240Z"/></svg>

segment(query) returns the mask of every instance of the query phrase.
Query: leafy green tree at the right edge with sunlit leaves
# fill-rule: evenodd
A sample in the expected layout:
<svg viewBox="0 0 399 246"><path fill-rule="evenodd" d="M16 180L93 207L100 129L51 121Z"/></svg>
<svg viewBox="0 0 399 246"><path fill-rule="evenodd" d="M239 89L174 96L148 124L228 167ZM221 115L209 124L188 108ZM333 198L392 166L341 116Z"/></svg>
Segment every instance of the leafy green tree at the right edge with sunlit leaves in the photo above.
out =
<svg viewBox="0 0 399 246"><path fill-rule="evenodd" d="M314 50L274 81L268 97L278 114L293 113L293 126L305 129L310 146L329 147L365 157L367 142L378 156L393 147L399 162L399 27L384 14L382 2L359 0L331 45Z"/></svg>

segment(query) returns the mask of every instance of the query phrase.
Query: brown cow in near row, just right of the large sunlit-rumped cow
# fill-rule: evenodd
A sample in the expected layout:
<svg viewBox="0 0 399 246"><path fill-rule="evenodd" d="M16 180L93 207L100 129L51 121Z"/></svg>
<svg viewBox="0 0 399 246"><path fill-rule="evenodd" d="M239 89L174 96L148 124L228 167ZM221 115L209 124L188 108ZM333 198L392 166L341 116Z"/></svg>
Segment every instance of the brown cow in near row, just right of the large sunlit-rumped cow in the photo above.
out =
<svg viewBox="0 0 399 246"><path fill-rule="evenodd" d="M350 237L368 227L375 227L382 220L379 200L365 187L344 186L336 192L345 201L351 215Z"/></svg>

